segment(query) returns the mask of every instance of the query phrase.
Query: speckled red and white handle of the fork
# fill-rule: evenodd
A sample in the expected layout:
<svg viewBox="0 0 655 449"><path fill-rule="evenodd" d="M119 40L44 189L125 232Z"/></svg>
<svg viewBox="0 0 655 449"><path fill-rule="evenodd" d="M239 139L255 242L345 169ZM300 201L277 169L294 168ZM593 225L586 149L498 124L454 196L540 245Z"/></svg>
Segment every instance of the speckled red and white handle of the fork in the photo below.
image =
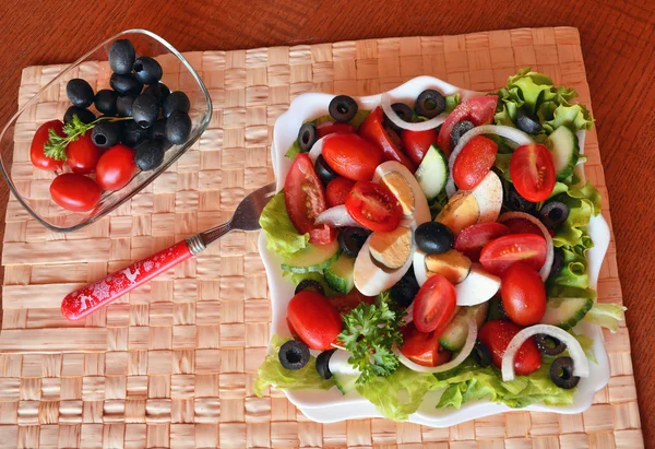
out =
<svg viewBox="0 0 655 449"><path fill-rule="evenodd" d="M190 257L187 240L178 241L170 248L69 293L61 302L61 315L71 321L84 318Z"/></svg>

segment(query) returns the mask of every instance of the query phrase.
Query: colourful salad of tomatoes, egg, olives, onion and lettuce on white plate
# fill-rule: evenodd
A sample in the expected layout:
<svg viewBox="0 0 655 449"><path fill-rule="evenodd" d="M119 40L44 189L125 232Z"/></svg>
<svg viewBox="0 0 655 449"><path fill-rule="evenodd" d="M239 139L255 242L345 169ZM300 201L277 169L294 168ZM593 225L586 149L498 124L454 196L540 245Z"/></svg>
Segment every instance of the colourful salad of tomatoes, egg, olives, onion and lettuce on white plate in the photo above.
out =
<svg viewBox="0 0 655 449"><path fill-rule="evenodd" d="M338 95L303 122L260 218L296 287L255 392L340 391L393 420L437 392L436 409L571 404L596 363L579 328L623 314L587 270L600 194L575 96L524 69L490 94Z"/></svg>

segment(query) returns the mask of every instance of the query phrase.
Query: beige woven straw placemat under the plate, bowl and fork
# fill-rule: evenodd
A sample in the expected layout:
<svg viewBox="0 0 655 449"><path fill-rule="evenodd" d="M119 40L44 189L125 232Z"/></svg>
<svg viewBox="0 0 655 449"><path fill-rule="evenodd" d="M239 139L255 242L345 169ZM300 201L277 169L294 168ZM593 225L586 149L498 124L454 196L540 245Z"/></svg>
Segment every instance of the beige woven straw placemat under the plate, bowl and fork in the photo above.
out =
<svg viewBox="0 0 655 449"><path fill-rule="evenodd" d="M257 233L230 234L85 320L66 321L59 304L68 292L225 221L245 194L272 181L273 125L301 93L368 95L420 74L492 91L532 66L575 87L591 105L580 37L565 27L184 56L211 92L214 117L200 141L143 192L70 235L47 231L10 198L2 257L1 447L643 446L624 323L615 334L605 332L609 386L579 415L519 411L445 429L385 420L321 425L279 391L257 398L252 380L266 352L271 314ZM26 68L19 103L62 68ZM81 70L95 87L107 84L97 64ZM164 82L183 87L175 70L165 68ZM49 113L17 129L16 151L26 151L37 125L63 110L56 104L67 102L62 90L48 99L52 104L43 110ZM587 133L585 152L587 176L603 193L610 222L595 130ZM25 191L43 194L38 174L27 165L22 169ZM612 239L600 302L621 303L615 253Z"/></svg>

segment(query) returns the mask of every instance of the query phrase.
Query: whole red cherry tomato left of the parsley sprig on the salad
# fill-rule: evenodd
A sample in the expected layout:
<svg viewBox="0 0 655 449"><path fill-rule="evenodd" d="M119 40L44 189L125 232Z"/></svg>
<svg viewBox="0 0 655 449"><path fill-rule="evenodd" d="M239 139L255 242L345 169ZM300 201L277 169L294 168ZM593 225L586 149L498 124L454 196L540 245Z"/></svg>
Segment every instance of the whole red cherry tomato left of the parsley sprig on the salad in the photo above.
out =
<svg viewBox="0 0 655 449"><path fill-rule="evenodd" d="M289 300L287 317L293 328L311 350L331 350L342 331L338 311L325 296L311 290L299 292Z"/></svg>

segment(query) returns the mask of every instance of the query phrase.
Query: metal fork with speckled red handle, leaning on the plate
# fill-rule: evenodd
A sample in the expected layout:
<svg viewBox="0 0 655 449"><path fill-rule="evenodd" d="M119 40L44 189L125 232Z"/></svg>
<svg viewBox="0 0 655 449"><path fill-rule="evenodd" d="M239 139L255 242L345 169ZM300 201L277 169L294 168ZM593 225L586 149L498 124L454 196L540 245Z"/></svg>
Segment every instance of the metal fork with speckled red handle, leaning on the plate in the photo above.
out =
<svg viewBox="0 0 655 449"><path fill-rule="evenodd" d="M156 275L198 255L207 245L230 231L259 229L259 217L273 194L275 194L275 184L261 187L243 198L226 223L178 241L156 255L69 293L61 302L61 314L69 320L84 318Z"/></svg>

